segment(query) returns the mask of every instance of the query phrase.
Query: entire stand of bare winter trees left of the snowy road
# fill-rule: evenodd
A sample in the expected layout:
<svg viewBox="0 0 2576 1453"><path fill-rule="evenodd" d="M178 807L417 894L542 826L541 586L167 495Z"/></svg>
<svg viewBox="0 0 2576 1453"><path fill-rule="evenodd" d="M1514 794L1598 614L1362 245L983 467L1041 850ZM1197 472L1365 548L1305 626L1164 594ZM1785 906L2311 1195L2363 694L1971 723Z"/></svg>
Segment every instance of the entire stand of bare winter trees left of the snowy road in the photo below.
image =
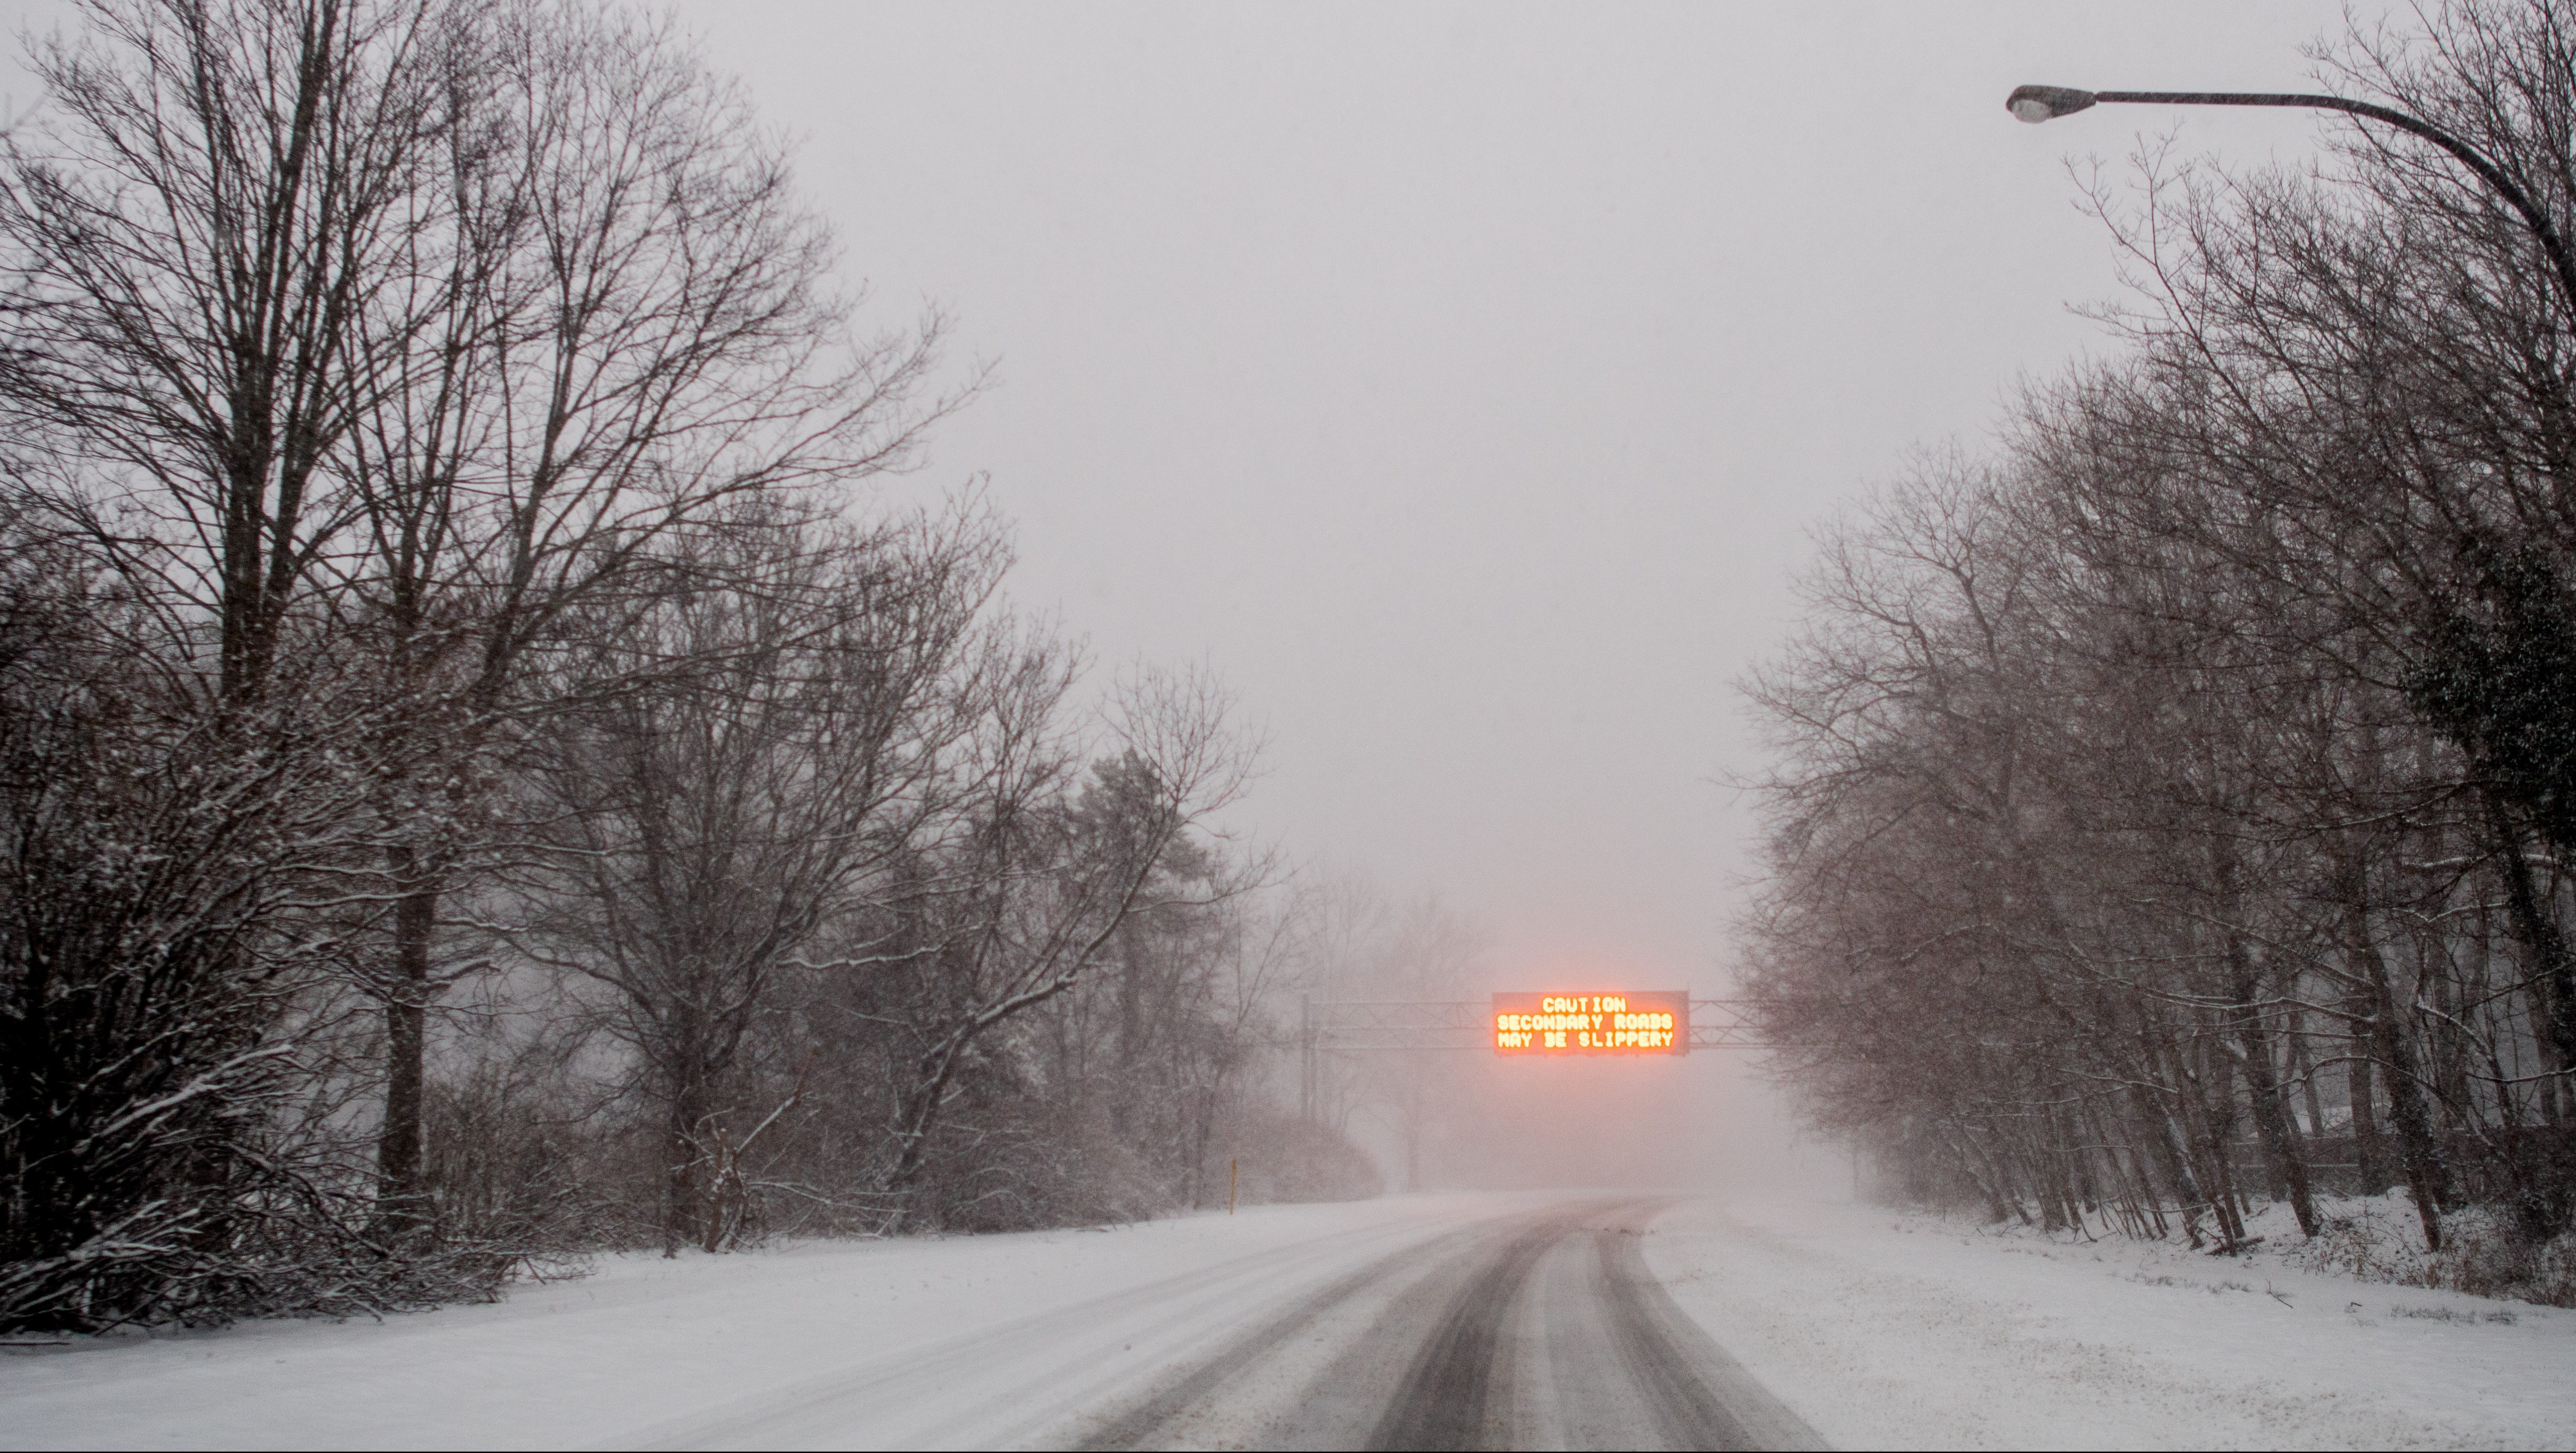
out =
<svg viewBox="0 0 2576 1453"><path fill-rule="evenodd" d="M979 376L860 325L739 88L598 5L85 21L0 165L0 1322L886 1229L976 1157L1208 1198L1296 922L1252 747L1203 675L1077 711L974 492L863 505Z"/></svg>

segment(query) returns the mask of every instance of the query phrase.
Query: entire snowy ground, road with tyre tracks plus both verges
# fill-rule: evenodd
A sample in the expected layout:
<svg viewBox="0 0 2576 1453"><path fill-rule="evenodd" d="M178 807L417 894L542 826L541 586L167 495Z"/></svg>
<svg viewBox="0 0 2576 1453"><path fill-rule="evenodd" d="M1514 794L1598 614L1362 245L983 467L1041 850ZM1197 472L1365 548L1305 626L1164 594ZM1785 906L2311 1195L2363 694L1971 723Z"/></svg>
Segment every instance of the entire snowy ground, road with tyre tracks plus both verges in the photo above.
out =
<svg viewBox="0 0 2576 1453"><path fill-rule="evenodd" d="M2576 1440L2568 1311L1824 1201L1656 1206L608 1257L497 1306L8 1347L0 1448Z"/></svg>

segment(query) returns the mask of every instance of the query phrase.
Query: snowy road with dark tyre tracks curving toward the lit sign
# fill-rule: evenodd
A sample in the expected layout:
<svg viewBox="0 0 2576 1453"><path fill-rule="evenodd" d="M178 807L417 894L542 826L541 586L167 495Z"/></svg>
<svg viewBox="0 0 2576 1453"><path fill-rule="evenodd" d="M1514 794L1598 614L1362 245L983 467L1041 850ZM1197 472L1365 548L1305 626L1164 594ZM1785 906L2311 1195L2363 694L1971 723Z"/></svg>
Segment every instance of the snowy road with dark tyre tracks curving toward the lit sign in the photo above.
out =
<svg viewBox="0 0 2576 1453"><path fill-rule="evenodd" d="M1646 1270L1667 1198L1270 1244L662 1425L644 1448L1821 1448Z"/></svg>

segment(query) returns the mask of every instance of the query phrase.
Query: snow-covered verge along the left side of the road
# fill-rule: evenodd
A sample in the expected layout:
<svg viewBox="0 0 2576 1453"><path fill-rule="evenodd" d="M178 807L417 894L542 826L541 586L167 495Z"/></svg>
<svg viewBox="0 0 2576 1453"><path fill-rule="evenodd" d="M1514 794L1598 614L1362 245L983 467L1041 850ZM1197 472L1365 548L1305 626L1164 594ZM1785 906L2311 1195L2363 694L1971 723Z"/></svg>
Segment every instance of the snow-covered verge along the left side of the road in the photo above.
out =
<svg viewBox="0 0 2576 1453"><path fill-rule="evenodd" d="M935 1420L1033 1404L1072 1365L1115 1386L1314 1278L1515 1198L1262 1206L1100 1231L811 1242L732 1257L605 1257L590 1278L495 1306L384 1322L263 1322L0 1355L0 1448L580 1448L680 1432L711 1409L796 1396L853 1368L1069 1306L1229 1268L1118 1322L1048 1329L1048 1368L943 1373L894 1389L860 1435L902 1445ZM1177 1345L1167 1345L1177 1342ZM1203 1345L1203 1342L1200 1342ZM943 1438L948 1440L948 1438Z"/></svg>

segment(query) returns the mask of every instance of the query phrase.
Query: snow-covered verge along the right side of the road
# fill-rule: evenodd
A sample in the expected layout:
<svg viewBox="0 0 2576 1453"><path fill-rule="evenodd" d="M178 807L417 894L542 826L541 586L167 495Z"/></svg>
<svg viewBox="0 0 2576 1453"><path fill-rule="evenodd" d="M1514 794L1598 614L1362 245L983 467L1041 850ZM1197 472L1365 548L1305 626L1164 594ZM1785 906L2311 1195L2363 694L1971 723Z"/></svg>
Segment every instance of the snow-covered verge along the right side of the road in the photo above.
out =
<svg viewBox="0 0 2576 1453"><path fill-rule="evenodd" d="M2576 1445L2576 1311L1847 1203L1677 1206L1646 1262L1842 1448Z"/></svg>

